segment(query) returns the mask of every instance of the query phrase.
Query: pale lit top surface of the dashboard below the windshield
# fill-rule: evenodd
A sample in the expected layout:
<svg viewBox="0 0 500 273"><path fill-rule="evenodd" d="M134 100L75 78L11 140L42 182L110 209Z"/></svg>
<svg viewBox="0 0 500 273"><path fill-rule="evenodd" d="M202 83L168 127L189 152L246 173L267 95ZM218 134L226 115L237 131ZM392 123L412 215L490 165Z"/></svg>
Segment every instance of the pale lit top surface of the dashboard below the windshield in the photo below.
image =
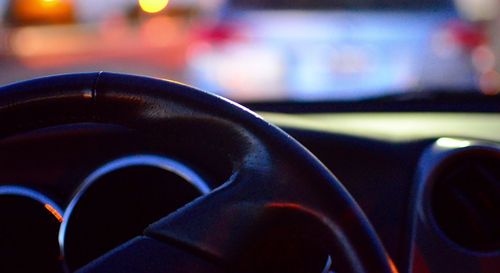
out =
<svg viewBox="0 0 500 273"><path fill-rule="evenodd" d="M279 127L352 135L387 142L440 137L500 141L498 113L321 113L261 112Z"/></svg>

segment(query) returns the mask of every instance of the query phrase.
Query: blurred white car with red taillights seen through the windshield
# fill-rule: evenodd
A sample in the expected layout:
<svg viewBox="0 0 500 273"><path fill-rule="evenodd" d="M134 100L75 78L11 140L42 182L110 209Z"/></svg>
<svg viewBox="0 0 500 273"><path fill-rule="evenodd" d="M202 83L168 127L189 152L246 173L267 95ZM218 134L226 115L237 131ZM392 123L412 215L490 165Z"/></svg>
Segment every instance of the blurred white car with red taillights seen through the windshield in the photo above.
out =
<svg viewBox="0 0 500 273"><path fill-rule="evenodd" d="M476 85L452 1L234 0L223 14L188 51L188 82L238 100Z"/></svg>

